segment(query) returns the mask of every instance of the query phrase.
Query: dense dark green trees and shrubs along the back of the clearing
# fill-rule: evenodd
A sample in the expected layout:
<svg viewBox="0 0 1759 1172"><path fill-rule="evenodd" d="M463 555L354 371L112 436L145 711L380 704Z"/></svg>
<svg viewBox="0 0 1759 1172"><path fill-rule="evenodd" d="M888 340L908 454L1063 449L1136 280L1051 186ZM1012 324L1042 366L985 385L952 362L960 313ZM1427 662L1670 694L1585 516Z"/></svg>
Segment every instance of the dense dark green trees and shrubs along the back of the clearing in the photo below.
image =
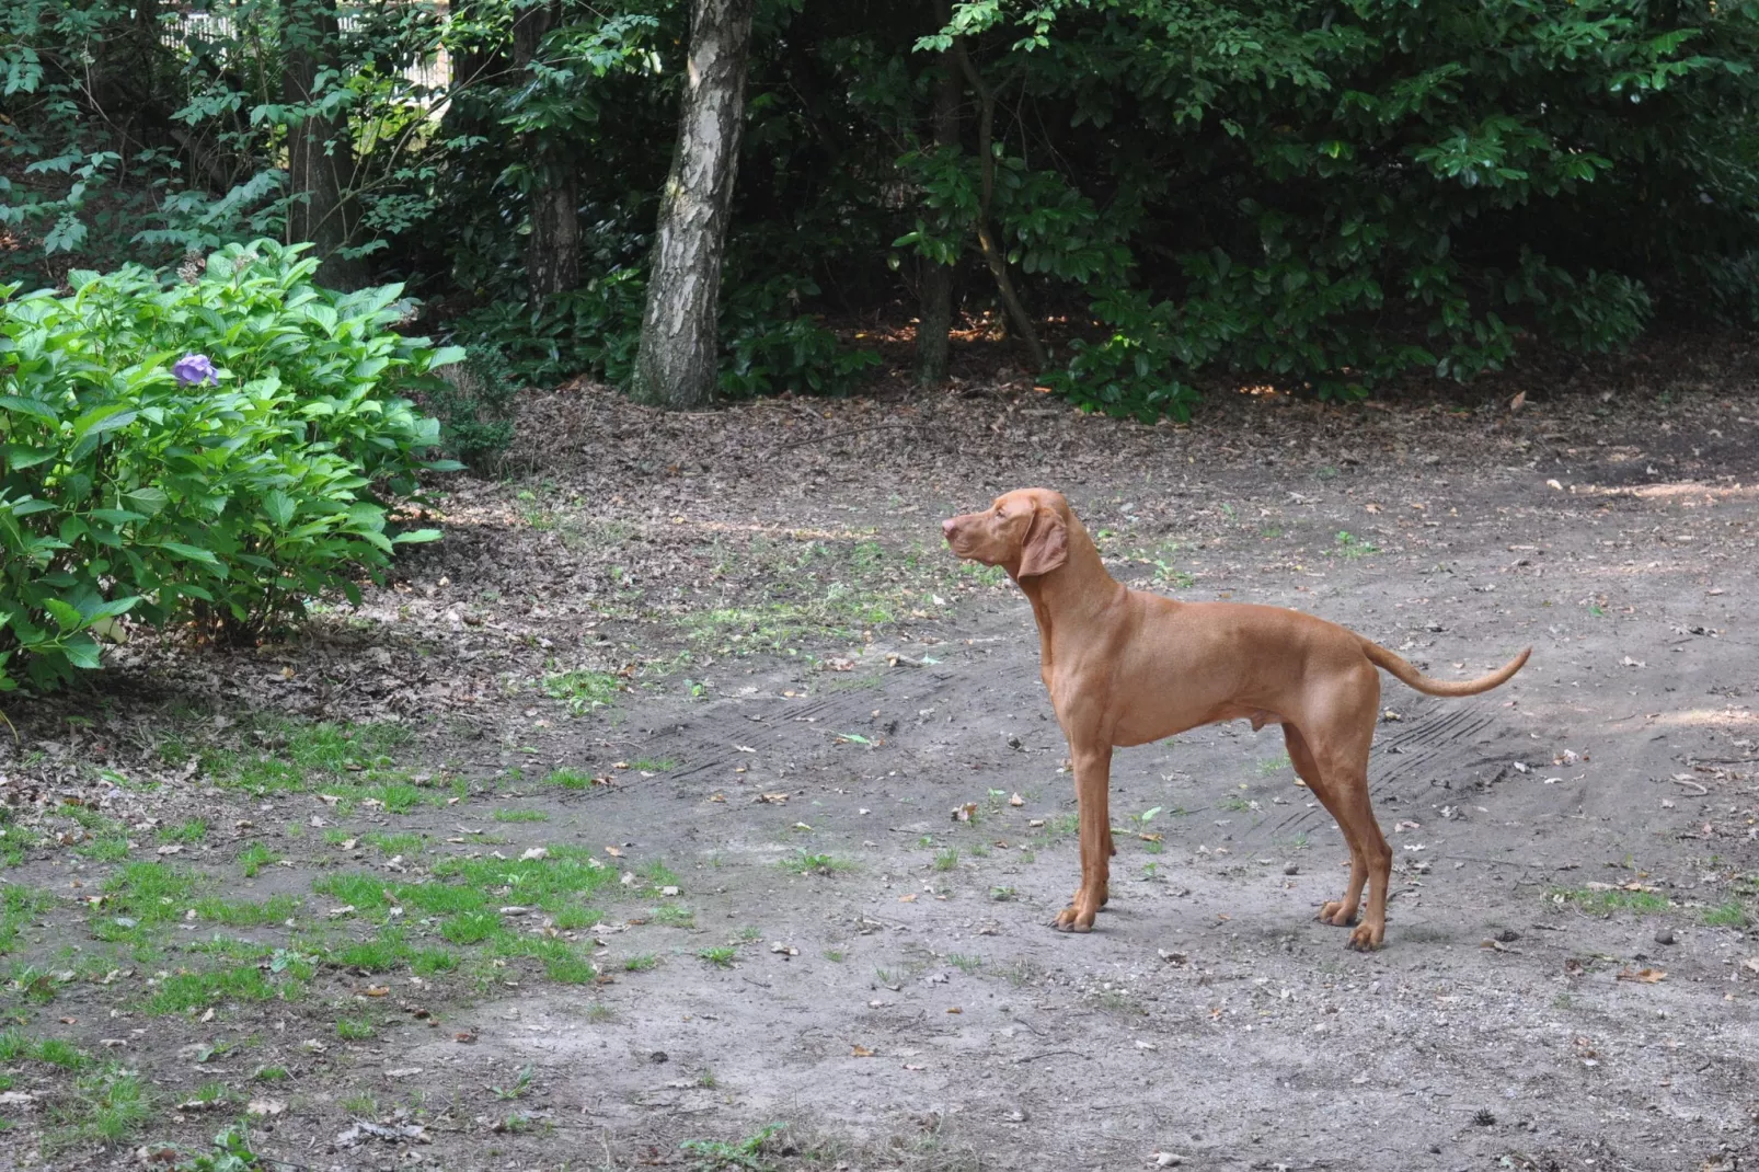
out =
<svg viewBox="0 0 1759 1172"><path fill-rule="evenodd" d="M5 5L0 278L287 232L331 206L287 144L331 127L327 275L445 310L457 447L501 442L514 385L624 377L684 5L366 0L313 56L297 4ZM1145 417L1205 370L1353 396L1752 322L1755 62L1752 2L769 0L721 385L857 385L825 317L908 320L932 266L994 329L1008 282L1054 387Z"/></svg>

